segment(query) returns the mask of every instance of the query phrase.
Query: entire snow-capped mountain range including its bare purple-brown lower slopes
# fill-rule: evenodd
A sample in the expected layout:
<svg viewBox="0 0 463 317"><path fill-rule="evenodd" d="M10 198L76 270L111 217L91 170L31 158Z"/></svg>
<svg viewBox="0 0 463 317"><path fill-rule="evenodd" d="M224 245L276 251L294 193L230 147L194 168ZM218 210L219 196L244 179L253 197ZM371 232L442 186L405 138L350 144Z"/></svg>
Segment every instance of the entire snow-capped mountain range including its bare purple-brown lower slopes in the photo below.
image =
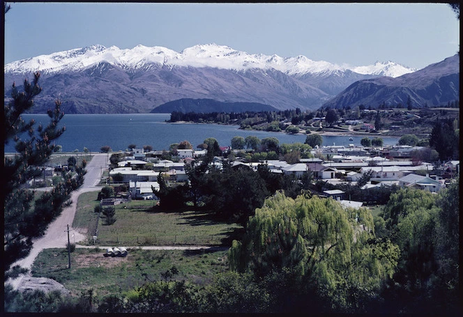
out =
<svg viewBox="0 0 463 317"><path fill-rule="evenodd" d="M59 98L67 114L149 113L182 99L314 110L355 82L416 72L391 61L347 67L305 56L248 54L216 44L180 53L166 47L93 45L15 61L4 70L6 100L13 82L20 86L40 71L43 91L33 111L45 112ZM197 111L203 111L202 105Z"/></svg>

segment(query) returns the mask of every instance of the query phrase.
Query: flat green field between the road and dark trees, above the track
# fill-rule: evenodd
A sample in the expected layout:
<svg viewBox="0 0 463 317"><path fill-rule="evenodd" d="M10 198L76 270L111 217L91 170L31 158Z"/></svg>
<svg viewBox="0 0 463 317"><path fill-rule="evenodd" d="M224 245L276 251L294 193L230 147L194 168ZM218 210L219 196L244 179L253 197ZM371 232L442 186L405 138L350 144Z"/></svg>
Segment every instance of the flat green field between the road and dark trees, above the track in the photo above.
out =
<svg viewBox="0 0 463 317"><path fill-rule="evenodd" d="M181 212L164 212L153 207L153 201L131 201L116 207L116 222L106 225L105 219L98 219L93 208L98 192L79 196L74 227L82 228L93 244L92 235L98 221L98 245L142 246L142 245L230 245L236 235L243 232L243 226L215 222L208 212L186 209Z"/></svg>

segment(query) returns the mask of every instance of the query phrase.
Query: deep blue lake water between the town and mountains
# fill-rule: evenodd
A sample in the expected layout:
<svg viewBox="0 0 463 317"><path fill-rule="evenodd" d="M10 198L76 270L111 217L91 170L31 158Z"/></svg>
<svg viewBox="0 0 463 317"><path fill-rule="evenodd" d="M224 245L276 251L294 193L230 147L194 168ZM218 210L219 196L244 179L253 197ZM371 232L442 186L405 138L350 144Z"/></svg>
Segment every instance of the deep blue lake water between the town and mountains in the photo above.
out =
<svg viewBox="0 0 463 317"><path fill-rule="evenodd" d="M25 121L35 118L37 123L47 125L46 114L26 114ZM276 137L280 144L305 142L305 135L285 134L282 132L264 132L239 130L238 125L215 125L202 123L166 123L170 114L66 114L60 125L66 126L66 132L59 137L56 144L63 147L63 152L88 148L100 152L102 146L110 146L113 151L126 150L129 144L137 147L153 146L154 150L168 150L170 144L190 141L196 148L204 139L213 137L220 146L230 146L233 137L254 135L259 139ZM395 145L399 138L382 137L385 145ZM362 137L323 136L323 145L360 146ZM372 137L370 137L372 139ZM13 144L5 146L5 152L15 152Z"/></svg>

